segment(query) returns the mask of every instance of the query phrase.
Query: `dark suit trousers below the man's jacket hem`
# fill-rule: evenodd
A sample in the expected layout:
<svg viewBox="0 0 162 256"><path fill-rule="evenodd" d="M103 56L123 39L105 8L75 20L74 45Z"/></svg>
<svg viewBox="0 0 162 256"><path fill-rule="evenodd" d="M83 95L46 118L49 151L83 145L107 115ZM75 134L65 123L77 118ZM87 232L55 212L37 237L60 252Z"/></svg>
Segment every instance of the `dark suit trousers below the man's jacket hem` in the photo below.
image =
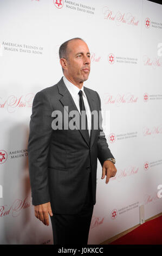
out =
<svg viewBox="0 0 162 256"><path fill-rule="evenodd" d="M79 214L50 216L53 227L54 245L81 245L88 243L90 222L93 214L92 185L89 179L86 202Z"/></svg>

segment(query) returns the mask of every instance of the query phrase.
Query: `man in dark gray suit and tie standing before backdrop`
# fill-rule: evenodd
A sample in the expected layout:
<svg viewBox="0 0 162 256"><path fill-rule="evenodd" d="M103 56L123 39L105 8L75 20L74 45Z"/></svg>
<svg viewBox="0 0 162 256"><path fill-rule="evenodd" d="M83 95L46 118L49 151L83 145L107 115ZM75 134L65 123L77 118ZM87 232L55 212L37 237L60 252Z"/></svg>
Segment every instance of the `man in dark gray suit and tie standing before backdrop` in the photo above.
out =
<svg viewBox="0 0 162 256"><path fill-rule="evenodd" d="M60 46L59 55L64 76L33 101L28 143L32 203L45 225L50 215L54 244L87 244L97 159L106 183L116 174L115 159L102 129L100 96L83 87L90 72L86 42L70 39ZM75 121L73 111L79 114Z"/></svg>

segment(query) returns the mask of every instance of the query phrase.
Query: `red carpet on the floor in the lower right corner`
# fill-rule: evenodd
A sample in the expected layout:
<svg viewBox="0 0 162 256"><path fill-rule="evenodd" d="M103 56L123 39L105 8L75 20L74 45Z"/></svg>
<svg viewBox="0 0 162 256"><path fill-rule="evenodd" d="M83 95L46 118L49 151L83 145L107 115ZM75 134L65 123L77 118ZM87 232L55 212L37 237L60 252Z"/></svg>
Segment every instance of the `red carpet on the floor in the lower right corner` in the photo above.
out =
<svg viewBox="0 0 162 256"><path fill-rule="evenodd" d="M109 245L162 245L162 216L141 224Z"/></svg>

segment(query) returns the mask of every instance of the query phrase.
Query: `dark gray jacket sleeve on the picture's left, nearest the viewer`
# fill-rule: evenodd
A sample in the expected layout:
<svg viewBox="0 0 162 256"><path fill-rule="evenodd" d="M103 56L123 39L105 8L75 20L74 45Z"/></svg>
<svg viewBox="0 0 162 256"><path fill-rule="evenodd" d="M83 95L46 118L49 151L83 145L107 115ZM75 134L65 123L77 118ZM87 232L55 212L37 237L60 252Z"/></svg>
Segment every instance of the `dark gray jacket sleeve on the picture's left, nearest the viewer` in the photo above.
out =
<svg viewBox="0 0 162 256"><path fill-rule="evenodd" d="M32 204L50 201L48 188L48 152L52 134L52 109L42 92L33 101L28 141L29 176Z"/></svg>

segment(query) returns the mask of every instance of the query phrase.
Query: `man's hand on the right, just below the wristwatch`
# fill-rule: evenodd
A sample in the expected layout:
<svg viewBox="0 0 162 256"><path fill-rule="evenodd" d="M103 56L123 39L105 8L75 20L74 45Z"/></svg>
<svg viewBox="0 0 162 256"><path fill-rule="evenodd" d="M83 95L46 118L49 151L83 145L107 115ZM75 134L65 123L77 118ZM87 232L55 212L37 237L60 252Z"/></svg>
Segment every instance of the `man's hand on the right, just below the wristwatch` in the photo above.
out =
<svg viewBox="0 0 162 256"><path fill-rule="evenodd" d="M106 175L106 184L107 184L108 181L109 181L109 178L114 177L116 172L117 172L117 170L116 170L116 167L115 167L114 163L109 161L109 160L106 160L103 163L103 166L102 166L102 177L101 177L101 179L104 179L105 175Z"/></svg>

